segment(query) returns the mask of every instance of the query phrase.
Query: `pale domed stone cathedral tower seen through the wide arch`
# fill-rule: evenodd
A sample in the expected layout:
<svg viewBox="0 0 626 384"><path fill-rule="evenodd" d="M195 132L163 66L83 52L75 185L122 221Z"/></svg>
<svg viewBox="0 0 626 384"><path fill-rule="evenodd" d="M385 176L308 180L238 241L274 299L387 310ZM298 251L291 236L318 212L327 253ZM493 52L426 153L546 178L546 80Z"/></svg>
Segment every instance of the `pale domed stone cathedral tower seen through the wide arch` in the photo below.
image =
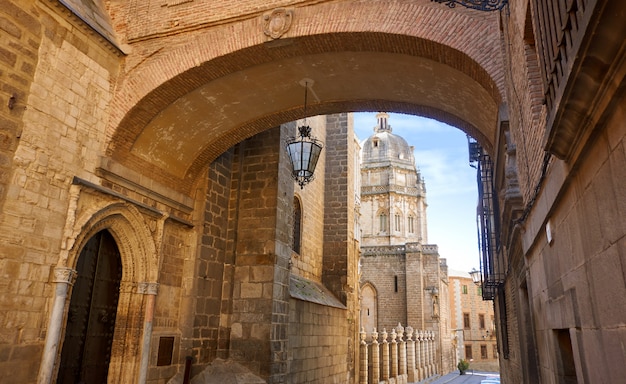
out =
<svg viewBox="0 0 626 384"><path fill-rule="evenodd" d="M376 119L361 144L361 326L435 332L439 373L449 372L447 265L428 244L425 182L389 115Z"/></svg>

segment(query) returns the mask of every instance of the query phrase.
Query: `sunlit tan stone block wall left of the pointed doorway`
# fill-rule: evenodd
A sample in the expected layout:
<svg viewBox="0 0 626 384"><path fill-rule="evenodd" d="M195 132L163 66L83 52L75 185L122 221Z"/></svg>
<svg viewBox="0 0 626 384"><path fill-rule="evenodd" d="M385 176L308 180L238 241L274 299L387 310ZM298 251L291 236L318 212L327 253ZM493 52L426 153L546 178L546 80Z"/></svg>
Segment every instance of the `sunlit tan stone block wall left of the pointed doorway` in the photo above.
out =
<svg viewBox="0 0 626 384"><path fill-rule="evenodd" d="M39 3L0 8L0 381L30 382L73 240L70 185L94 179L118 57Z"/></svg>

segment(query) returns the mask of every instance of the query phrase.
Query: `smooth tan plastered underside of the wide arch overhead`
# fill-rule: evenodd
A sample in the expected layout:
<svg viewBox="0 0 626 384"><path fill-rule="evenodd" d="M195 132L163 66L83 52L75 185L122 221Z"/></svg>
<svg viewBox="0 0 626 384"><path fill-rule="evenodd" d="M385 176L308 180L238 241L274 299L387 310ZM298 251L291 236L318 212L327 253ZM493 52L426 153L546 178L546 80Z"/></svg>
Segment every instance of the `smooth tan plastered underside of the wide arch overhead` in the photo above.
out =
<svg viewBox="0 0 626 384"><path fill-rule="evenodd" d="M186 174L205 151L216 156L240 141L226 137L233 129L287 111L301 117L302 79L314 82L308 114L412 105L461 119L483 140L494 134L497 105L491 95L449 66L403 54L329 52L276 60L203 84L148 122L130 152L168 173Z"/></svg>

